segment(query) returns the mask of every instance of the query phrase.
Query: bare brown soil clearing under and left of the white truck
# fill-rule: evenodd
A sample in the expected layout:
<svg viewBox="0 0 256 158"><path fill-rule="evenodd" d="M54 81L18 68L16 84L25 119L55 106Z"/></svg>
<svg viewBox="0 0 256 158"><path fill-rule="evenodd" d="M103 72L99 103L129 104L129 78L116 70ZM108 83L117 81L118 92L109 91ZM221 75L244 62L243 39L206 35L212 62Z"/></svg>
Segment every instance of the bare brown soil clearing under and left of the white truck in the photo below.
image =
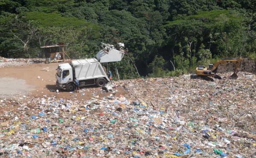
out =
<svg viewBox="0 0 256 158"><path fill-rule="evenodd" d="M110 93L102 92L101 87L90 86L82 87L82 93L70 93L65 90L59 90L56 94L56 79L55 73L58 63L45 64L30 63L21 66L8 66L0 68L0 98L11 98L11 97L43 97L43 96L55 96L62 99L70 100L89 100L92 97L109 96ZM48 69L49 71L42 71ZM113 96L119 96L120 94L125 95L127 91L122 87L116 87Z"/></svg>

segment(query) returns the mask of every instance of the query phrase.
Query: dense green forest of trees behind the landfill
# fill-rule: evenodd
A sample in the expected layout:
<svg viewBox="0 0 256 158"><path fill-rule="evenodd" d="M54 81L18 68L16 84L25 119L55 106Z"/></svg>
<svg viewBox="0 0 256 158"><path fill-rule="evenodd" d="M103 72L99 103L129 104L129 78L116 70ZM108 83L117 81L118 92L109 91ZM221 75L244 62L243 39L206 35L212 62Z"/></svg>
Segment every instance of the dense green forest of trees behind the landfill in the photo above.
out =
<svg viewBox="0 0 256 158"><path fill-rule="evenodd" d="M101 42L125 44L116 79L178 76L222 58L256 58L255 0L0 0L0 56L45 58L64 43L71 59Z"/></svg>

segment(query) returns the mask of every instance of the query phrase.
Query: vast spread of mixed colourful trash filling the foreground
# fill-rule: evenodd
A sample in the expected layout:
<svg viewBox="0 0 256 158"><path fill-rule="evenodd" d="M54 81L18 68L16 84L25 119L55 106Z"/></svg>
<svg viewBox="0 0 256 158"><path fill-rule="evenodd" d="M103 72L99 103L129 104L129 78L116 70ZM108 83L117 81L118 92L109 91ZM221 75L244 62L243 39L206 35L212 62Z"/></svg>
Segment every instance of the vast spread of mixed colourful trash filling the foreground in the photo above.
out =
<svg viewBox="0 0 256 158"><path fill-rule="evenodd" d="M121 80L82 102L1 98L0 156L255 158L256 76L191 76Z"/></svg>

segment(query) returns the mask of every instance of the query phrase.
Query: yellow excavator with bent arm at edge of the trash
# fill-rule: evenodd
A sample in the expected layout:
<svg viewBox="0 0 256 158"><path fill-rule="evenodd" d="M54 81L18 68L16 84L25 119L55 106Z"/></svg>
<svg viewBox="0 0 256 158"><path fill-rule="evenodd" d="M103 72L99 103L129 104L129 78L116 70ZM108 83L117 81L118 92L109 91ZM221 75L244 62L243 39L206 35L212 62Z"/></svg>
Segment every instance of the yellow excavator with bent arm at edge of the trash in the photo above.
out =
<svg viewBox="0 0 256 158"><path fill-rule="evenodd" d="M209 64L209 68L206 68L205 66L199 65L196 69L195 69L195 73L200 76L203 79L206 79L208 81L212 81L214 82L215 78L217 79L223 79L222 76L216 74L217 70L218 70L218 66L220 64L230 64L230 63L234 63L235 64L235 69L234 69L234 73L230 76L232 79L237 79L237 72L238 72L238 67L240 65L242 61L242 58L229 58L229 59L221 59L220 61L216 62L214 65L213 64Z"/></svg>

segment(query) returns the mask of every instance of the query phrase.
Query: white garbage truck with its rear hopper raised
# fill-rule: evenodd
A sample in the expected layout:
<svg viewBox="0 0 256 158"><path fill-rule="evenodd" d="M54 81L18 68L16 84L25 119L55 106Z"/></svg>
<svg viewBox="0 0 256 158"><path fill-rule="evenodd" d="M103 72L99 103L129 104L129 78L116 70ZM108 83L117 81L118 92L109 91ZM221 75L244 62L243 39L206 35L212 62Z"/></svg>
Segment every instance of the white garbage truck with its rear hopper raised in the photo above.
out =
<svg viewBox="0 0 256 158"><path fill-rule="evenodd" d="M79 80L79 87L86 85L104 86L110 80L101 63L121 61L125 54L125 51L122 50L123 47L123 43L118 43L116 47L102 43L103 49L94 58L76 59L70 63L58 65L55 74L56 86L60 89L73 91L75 90L75 78Z"/></svg>

